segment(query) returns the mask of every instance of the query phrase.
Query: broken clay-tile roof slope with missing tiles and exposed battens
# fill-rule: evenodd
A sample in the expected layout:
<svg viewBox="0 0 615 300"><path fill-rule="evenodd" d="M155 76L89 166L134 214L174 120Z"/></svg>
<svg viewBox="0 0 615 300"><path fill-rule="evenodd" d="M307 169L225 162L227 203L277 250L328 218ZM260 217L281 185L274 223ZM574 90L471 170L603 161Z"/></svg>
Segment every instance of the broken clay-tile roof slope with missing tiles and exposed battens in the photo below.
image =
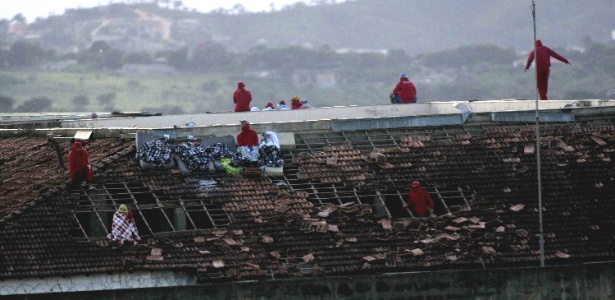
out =
<svg viewBox="0 0 615 300"><path fill-rule="evenodd" d="M613 122L541 127L547 264L615 257ZM280 178L146 171L134 139L94 138L96 191L63 186L46 139L5 138L0 278L176 270L208 282L535 265L534 134L494 123L302 131ZM402 208L413 180L439 217ZM145 243L106 241L119 204Z"/></svg>

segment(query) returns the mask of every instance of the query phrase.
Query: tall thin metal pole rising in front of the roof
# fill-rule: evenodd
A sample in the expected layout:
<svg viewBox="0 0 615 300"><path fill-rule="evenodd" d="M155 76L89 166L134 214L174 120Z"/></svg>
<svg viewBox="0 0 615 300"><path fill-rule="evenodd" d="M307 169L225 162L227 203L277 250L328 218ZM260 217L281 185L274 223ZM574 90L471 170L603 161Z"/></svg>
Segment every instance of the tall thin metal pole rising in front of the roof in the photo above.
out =
<svg viewBox="0 0 615 300"><path fill-rule="evenodd" d="M534 21L534 68L536 69L536 83L538 83L538 56L536 53L536 4L532 0L532 19ZM538 84L536 85L536 170L538 177L538 238L540 241L540 266L545 266L545 239L542 230L542 176L540 172L540 117L538 114Z"/></svg>

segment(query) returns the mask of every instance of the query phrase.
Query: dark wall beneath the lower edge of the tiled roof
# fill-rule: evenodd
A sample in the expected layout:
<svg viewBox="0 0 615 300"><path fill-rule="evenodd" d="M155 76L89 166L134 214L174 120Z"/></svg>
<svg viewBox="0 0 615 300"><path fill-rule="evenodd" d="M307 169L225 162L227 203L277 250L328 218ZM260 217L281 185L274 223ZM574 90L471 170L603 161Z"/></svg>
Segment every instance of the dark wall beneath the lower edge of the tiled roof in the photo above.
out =
<svg viewBox="0 0 615 300"><path fill-rule="evenodd" d="M615 263L314 277L6 299L613 299Z"/></svg>

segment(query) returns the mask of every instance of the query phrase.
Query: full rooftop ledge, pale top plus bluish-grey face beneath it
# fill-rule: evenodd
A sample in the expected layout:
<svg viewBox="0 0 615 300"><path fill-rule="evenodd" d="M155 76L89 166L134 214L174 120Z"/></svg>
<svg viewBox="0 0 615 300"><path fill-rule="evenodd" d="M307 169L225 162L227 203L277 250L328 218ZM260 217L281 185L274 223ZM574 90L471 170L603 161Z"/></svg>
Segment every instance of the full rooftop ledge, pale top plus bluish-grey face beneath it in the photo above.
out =
<svg viewBox="0 0 615 300"><path fill-rule="evenodd" d="M241 113L204 113L163 116L107 117L100 113L97 119L84 118L74 113L31 115L32 122L41 119L55 121L56 131L93 129L109 136L135 131L174 130L198 135L227 135L239 131L239 121L246 119L257 131L344 131L400 127L426 127L463 125L468 120L481 122L534 122L538 106L541 122L572 122L575 115L604 115L615 112L615 100L483 100L442 101L417 104L383 104L373 106L334 106L287 111L257 111ZM471 118L474 116L474 118ZM480 116L480 117L478 117ZM20 116L24 118L25 116ZM6 116L0 115L4 120ZM45 127L45 126L40 126ZM39 128L40 128L39 127ZM36 129L38 130L38 129ZM50 129L46 129L50 131ZM195 134L193 134L195 135Z"/></svg>

